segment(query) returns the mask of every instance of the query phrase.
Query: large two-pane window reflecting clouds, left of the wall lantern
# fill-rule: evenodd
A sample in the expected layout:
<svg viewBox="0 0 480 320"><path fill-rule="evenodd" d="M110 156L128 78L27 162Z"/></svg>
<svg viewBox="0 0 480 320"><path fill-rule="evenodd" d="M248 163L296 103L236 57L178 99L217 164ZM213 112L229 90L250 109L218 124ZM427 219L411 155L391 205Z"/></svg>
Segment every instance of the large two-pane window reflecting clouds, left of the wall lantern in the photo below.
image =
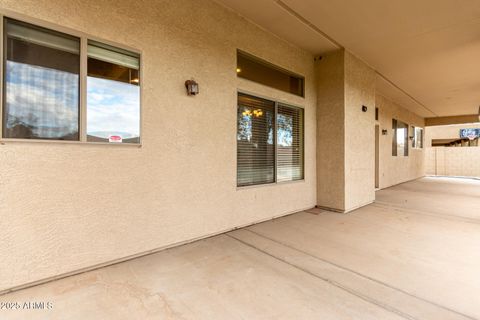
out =
<svg viewBox="0 0 480 320"><path fill-rule="evenodd" d="M139 54L10 18L3 41L2 138L140 143Z"/></svg>

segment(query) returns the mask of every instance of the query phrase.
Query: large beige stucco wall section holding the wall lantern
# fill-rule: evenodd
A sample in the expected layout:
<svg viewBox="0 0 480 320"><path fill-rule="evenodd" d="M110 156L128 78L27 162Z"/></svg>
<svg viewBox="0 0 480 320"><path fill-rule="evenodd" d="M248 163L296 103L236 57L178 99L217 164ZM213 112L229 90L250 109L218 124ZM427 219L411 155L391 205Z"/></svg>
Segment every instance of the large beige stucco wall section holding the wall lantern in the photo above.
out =
<svg viewBox="0 0 480 320"><path fill-rule="evenodd" d="M208 0L0 7L143 54L141 148L0 145L0 291L316 204L310 54ZM305 98L237 79L237 48L304 75ZM305 108L305 181L237 190L238 89Z"/></svg>

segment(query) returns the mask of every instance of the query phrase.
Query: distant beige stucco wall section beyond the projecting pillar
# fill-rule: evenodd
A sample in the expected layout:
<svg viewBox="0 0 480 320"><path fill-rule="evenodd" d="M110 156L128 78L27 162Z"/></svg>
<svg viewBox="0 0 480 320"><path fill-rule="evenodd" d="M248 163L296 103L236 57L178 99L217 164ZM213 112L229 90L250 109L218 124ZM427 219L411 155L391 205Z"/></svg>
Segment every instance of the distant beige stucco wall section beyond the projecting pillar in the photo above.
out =
<svg viewBox="0 0 480 320"><path fill-rule="evenodd" d="M413 135L411 126L424 127L425 120L380 94L376 95L376 106L379 108L380 125L380 188L425 176L425 148L413 149L409 140L408 157L392 156L392 119L408 124L409 136ZM387 135L382 135L383 129L387 130Z"/></svg>

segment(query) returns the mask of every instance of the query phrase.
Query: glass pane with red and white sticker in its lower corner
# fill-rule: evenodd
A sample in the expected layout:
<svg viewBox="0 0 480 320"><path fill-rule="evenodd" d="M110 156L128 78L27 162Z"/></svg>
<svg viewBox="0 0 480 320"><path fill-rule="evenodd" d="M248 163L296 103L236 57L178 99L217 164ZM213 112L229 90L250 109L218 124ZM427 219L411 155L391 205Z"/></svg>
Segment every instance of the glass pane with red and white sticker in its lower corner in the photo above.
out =
<svg viewBox="0 0 480 320"><path fill-rule="evenodd" d="M140 142L138 54L89 41L87 141Z"/></svg>

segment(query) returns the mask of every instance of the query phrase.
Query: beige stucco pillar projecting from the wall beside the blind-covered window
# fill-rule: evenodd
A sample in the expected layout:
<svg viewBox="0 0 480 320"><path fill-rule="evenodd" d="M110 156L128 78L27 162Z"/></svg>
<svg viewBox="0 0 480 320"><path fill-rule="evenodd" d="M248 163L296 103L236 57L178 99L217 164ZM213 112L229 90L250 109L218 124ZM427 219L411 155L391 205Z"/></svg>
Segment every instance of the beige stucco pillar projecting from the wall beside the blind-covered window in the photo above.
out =
<svg viewBox="0 0 480 320"><path fill-rule="evenodd" d="M316 68L317 201L351 211L375 200L375 71L344 50Z"/></svg>

